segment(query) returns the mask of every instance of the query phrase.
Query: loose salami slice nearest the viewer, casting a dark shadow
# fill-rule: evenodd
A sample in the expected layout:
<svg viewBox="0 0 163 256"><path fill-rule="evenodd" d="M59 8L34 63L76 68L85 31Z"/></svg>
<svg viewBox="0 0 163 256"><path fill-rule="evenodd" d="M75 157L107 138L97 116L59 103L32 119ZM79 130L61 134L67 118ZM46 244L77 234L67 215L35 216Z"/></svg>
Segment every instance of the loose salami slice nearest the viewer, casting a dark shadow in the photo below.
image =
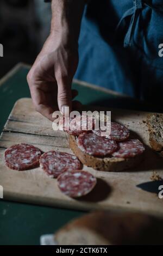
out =
<svg viewBox="0 0 163 256"><path fill-rule="evenodd" d="M85 196L91 192L97 182L96 178L85 170L62 173L57 181L61 192L74 198Z"/></svg>

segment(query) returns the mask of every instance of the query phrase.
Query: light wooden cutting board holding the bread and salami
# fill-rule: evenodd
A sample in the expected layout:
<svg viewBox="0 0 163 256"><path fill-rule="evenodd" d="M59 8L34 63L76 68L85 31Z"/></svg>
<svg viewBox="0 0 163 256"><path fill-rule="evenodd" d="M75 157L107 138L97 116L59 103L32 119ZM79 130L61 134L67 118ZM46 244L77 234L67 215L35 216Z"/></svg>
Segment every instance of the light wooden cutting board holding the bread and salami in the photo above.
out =
<svg viewBox="0 0 163 256"><path fill-rule="evenodd" d="M115 120L128 125L131 133L146 144L145 161L133 170L120 173L101 172L84 166L98 182L89 195L77 200L62 194L57 181L40 168L18 172L4 165L4 150L16 143L33 144L42 151L54 149L72 153L65 132L53 131L51 121L34 111L31 99L18 100L0 138L0 185L3 186L4 199L61 208L129 209L162 215L163 199L158 197L161 181L152 181L151 177L156 171L163 178L163 159L149 148L145 123L147 112L111 110Z"/></svg>

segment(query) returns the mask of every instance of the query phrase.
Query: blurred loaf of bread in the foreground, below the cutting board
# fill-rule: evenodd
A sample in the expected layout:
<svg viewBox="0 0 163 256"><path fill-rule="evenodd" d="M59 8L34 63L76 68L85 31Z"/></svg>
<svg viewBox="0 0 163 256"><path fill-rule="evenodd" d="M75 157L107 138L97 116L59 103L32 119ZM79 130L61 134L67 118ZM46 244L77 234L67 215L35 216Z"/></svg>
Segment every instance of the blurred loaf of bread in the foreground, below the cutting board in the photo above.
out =
<svg viewBox="0 0 163 256"><path fill-rule="evenodd" d="M134 212L92 212L58 230L55 240L59 245L160 245L162 222Z"/></svg>

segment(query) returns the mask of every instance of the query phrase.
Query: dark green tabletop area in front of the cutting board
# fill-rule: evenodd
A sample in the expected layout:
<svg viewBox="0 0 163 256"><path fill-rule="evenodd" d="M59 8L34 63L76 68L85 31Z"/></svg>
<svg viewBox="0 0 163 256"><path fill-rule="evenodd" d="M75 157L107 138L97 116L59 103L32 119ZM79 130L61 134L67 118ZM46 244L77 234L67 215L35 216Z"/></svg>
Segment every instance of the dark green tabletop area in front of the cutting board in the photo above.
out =
<svg viewBox="0 0 163 256"><path fill-rule="evenodd" d="M0 203L0 245L39 245L42 234L53 234L83 212L12 203Z"/></svg>

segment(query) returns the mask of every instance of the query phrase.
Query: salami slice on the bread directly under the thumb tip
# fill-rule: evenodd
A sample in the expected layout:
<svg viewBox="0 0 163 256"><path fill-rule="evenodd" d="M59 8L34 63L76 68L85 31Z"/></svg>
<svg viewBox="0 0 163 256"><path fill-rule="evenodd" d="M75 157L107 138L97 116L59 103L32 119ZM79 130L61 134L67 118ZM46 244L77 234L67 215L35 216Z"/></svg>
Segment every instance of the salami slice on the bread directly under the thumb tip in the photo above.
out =
<svg viewBox="0 0 163 256"><path fill-rule="evenodd" d="M95 127L95 118L90 115L78 115L76 118L60 119L60 130L64 130L70 135L78 136L80 133L89 132Z"/></svg>

